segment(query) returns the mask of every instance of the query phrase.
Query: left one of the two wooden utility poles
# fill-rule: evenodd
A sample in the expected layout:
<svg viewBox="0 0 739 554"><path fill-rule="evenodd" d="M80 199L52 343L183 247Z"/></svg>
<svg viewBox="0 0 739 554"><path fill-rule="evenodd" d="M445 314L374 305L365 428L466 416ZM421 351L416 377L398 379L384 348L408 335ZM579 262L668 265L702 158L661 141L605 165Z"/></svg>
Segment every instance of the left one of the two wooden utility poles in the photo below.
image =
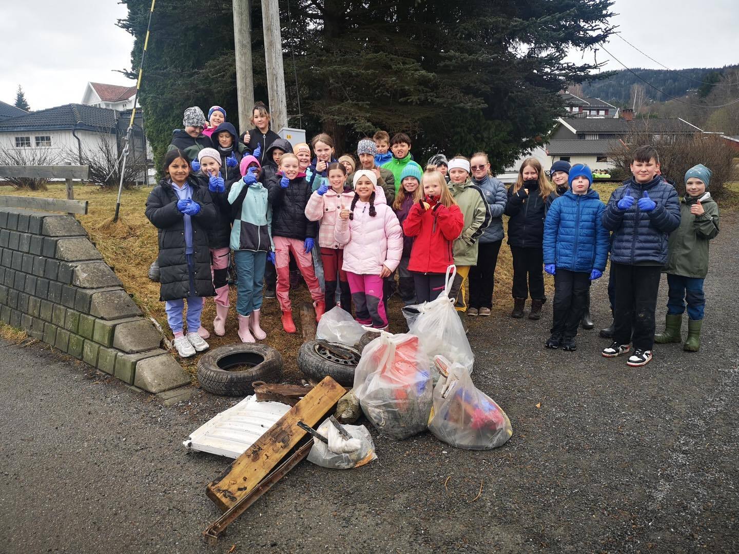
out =
<svg viewBox="0 0 739 554"><path fill-rule="evenodd" d="M239 132L251 127L254 77L251 69L251 1L234 0L234 47L236 50L236 97L239 101Z"/></svg>

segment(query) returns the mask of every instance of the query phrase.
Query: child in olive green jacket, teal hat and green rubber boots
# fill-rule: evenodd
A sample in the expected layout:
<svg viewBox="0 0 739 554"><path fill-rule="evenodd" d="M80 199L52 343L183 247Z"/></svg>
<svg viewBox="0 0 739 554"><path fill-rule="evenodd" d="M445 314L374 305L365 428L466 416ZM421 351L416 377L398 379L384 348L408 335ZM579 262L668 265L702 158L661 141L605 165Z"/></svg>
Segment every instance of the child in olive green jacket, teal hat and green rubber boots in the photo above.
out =
<svg viewBox="0 0 739 554"><path fill-rule="evenodd" d="M698 164L685 174L685 197L680 203L680 227L670 234L667 248L667 273L670 287L664 332L655 335L655 343L679 343L687 302L688 338L683 345L687 352L701 347L706 296L703 281L708 273L709 240L718 235L718 205L707 191L711 170Z"/></svg>

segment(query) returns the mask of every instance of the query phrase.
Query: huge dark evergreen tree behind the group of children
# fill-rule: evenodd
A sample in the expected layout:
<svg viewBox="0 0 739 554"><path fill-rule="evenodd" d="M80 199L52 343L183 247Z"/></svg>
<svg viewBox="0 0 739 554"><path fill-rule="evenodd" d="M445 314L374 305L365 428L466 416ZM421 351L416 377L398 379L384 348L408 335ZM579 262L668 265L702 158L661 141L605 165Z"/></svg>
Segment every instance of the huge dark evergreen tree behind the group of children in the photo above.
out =
<svg viewBox="0 0 739 554"><path fill-rule="evenodd" d="M135 74L150 4L123 2L129 17L120 25L136 37ZM542 143L562 111L557 92L591 78L596 65L565 55L613 31L611 4L281 0L287 112L299 113L299 99L307 135L328 132L338 151L377 129L405 131L421 162L436 151L482 150L500 170ZM255 98L266 100L260 7L253 2ZM187 106L218 103L237 119L233 58L230 1L208 10L194 0L157 2L140 95L155 151L166 149Z"/></svg>

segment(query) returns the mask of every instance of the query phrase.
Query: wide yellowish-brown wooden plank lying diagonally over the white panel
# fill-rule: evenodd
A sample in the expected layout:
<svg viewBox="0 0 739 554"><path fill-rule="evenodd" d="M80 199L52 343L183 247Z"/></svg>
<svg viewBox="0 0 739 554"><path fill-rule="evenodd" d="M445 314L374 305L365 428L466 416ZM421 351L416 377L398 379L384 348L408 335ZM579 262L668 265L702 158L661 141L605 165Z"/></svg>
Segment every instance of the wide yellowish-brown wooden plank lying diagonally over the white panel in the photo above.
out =
<svg viewBox="0 0 739 554"><path fill-rule="evenodd" d="M208 498L223 511L233 507L259 485L305 437L306 432L296 423L302 421L313 427L336 406L338 399L344 394L344 387L331 377L324 377L321 383L290 408L269 431L236 458L222 476L208 485Z"/></svg>

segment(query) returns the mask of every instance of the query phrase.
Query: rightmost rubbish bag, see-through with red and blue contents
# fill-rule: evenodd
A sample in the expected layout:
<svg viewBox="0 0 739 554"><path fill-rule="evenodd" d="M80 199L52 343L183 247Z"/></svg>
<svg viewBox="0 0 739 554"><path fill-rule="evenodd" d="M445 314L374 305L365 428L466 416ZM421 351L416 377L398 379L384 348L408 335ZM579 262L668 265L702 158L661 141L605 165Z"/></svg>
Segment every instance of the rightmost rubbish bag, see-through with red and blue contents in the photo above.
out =
<svg viewBox="0 0 739 554"><path fill-rule="evenodd" d="M505 444L513 434L511 421L487 394L477 390L467 368L452 363L434 388L429 431L448 445L489 450Z"/></svg>

